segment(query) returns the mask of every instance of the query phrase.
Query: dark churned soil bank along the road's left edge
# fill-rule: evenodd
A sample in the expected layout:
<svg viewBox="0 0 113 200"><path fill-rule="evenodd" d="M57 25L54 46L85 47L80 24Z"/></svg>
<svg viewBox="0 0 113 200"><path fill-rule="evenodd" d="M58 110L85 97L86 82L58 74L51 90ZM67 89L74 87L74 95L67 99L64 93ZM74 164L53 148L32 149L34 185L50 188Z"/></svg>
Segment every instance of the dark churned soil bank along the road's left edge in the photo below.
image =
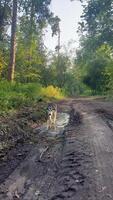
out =
<svg viewBox="0 0 113 200"><path fill-rule="evenodd" d="M45 120L45 104L0 117L0 184L26 158L34 145L33 130Z"/></svg>

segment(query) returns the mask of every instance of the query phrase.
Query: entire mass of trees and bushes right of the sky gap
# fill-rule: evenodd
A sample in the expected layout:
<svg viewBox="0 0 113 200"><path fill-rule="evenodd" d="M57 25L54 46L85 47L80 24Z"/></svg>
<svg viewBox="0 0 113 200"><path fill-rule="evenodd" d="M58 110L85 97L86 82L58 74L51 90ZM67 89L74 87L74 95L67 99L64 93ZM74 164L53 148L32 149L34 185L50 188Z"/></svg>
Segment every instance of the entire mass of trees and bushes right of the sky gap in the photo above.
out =
<svg viewBox="0 0 113 200"><path fill-rule="evenodd" d="M107 94L113 89L112 0L84 0L79 31L81 48L75 63L81 80L92 94Z"/></svg>

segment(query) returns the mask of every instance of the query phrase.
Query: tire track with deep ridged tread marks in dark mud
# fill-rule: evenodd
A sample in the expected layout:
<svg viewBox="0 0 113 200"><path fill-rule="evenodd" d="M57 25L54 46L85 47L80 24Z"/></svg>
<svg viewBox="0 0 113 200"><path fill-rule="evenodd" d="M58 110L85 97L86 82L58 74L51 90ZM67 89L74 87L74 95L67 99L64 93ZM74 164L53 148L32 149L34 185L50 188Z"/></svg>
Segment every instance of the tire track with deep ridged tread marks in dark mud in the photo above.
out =
<svg viewBox="0 0 113 200"><path fill-rule="evenodd" d="M48 200L78 200L79 198L88 200L89 194L85 198L84 193L88 185L91 184L88 171L92 167L92 159L87 141L84 140L84 137L82 138L82 135L80 139L79 134L76 135L76 140L68 137L66 139L62 161L55 178L56 183L51 188L52 192L50 191L50 193L56 194L51 195ZM82 189L83 192L81 193Z"/></svg>

